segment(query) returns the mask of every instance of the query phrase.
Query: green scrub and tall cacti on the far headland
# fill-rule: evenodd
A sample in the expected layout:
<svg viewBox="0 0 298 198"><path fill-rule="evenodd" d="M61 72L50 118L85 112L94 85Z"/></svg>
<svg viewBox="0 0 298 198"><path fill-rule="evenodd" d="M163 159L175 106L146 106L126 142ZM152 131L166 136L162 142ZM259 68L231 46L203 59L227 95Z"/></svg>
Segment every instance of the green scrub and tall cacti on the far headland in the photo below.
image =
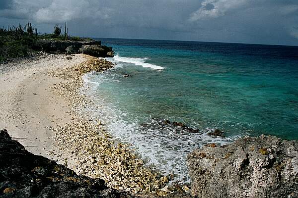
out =
<svg viewBox="0 0 298 198"><path fill-rule="evenodd" d="M37 29L29 22L25 26L2 27L0 28L0 62L27 56L30 51L34 51L31 49L31 44L38 40L90 41L92 39L70 36L67 23L65 23L63 35L59 24L54 26L54 32L50 34L38 34Z"/></svg>

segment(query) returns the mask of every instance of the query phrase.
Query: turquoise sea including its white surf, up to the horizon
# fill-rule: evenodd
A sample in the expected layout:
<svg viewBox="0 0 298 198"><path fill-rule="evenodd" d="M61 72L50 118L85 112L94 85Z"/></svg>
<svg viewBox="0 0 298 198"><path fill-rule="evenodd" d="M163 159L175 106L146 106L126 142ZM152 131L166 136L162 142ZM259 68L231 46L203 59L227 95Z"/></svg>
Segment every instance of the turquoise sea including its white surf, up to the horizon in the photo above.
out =
<svg viewBox="0 0 298 198"><path fill-rule="evenodd" d="M116 67L85 76L99 105L89 110L160 174L188 182L187 153L209 142L261 134L298 139L298 47L100 40L113 47L117 55L107 59ZM208 136L211 129L226 138Z"/></svg>

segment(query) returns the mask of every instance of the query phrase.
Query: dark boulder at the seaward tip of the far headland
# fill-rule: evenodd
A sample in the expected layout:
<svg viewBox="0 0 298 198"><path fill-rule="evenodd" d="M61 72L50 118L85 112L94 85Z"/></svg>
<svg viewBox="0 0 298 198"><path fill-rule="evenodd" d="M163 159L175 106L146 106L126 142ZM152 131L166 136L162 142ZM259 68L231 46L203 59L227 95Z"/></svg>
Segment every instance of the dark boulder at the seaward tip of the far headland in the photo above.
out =
<svg viewBox="0 0 298 198"><path fill-rule="evenodd" d="M95 57L109 57L114 56L111 47L100 45L83 45L79 51L84 54L88 54Z"/></svg>

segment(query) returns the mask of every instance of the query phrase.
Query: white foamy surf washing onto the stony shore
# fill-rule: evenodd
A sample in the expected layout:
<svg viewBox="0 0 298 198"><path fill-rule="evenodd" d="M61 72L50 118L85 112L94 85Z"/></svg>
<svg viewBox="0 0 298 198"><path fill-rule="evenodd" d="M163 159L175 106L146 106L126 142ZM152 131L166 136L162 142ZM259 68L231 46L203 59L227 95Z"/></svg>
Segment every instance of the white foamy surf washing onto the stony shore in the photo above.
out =
<svg viewBox="0 0 298 198"><path fill-rule="evenodd" d="M170 183L189 183L186 157L195 148L208 143L227 144L237 137L216 138L207 135L207 128L199 133L180 133L175 127L159 126L150 118L140 125L138 117L131 117L112 103L107 93L98 91L101 82L111 81L113 73L89 73L84 76L86 90L83 92L92 99L92 104L81 109L83 114L91 115L92 120L101 120L105 129L116 141L131 144L146 166L160 175L174 174ZM96 86L99 83L99 87ZM214 126L214 128L217 128Z"/></svg>

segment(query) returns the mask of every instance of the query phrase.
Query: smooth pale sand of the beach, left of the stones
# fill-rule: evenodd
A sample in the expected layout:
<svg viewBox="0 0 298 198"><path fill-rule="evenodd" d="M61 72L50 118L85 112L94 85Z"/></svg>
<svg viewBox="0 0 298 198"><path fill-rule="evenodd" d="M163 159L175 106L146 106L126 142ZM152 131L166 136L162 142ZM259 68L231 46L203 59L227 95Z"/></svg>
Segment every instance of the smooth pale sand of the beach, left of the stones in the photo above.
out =
<svg viewBox="0 0 298 198"><path fill-rule="evenodd" d="M49 89L62 79L47 73L85 59L81 54L72 56L72 60L66 57L47 55L0 66L7 68L0 72L0 129L7 129L27 150L48 158L52 156L47 152L56 149L50 128L69 123L71 115L68 103L53 96Z"/></svg>

